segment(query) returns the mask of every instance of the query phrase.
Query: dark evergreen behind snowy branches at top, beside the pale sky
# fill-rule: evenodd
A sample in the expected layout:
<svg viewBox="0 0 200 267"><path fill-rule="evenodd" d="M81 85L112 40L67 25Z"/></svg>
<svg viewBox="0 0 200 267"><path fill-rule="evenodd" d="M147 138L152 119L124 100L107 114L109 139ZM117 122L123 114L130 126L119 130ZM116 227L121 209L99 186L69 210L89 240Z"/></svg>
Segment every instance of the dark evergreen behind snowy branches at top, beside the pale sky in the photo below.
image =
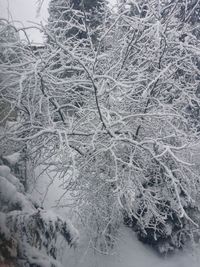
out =
<svg viewBox="0 0 200 267"><path fill-rule="evenodd" d="M62 41L68 38L86 39L89 34L95 42L105 7L105 0L51 0L48 28L50 31L53 29L51 33Z"/></svg>

